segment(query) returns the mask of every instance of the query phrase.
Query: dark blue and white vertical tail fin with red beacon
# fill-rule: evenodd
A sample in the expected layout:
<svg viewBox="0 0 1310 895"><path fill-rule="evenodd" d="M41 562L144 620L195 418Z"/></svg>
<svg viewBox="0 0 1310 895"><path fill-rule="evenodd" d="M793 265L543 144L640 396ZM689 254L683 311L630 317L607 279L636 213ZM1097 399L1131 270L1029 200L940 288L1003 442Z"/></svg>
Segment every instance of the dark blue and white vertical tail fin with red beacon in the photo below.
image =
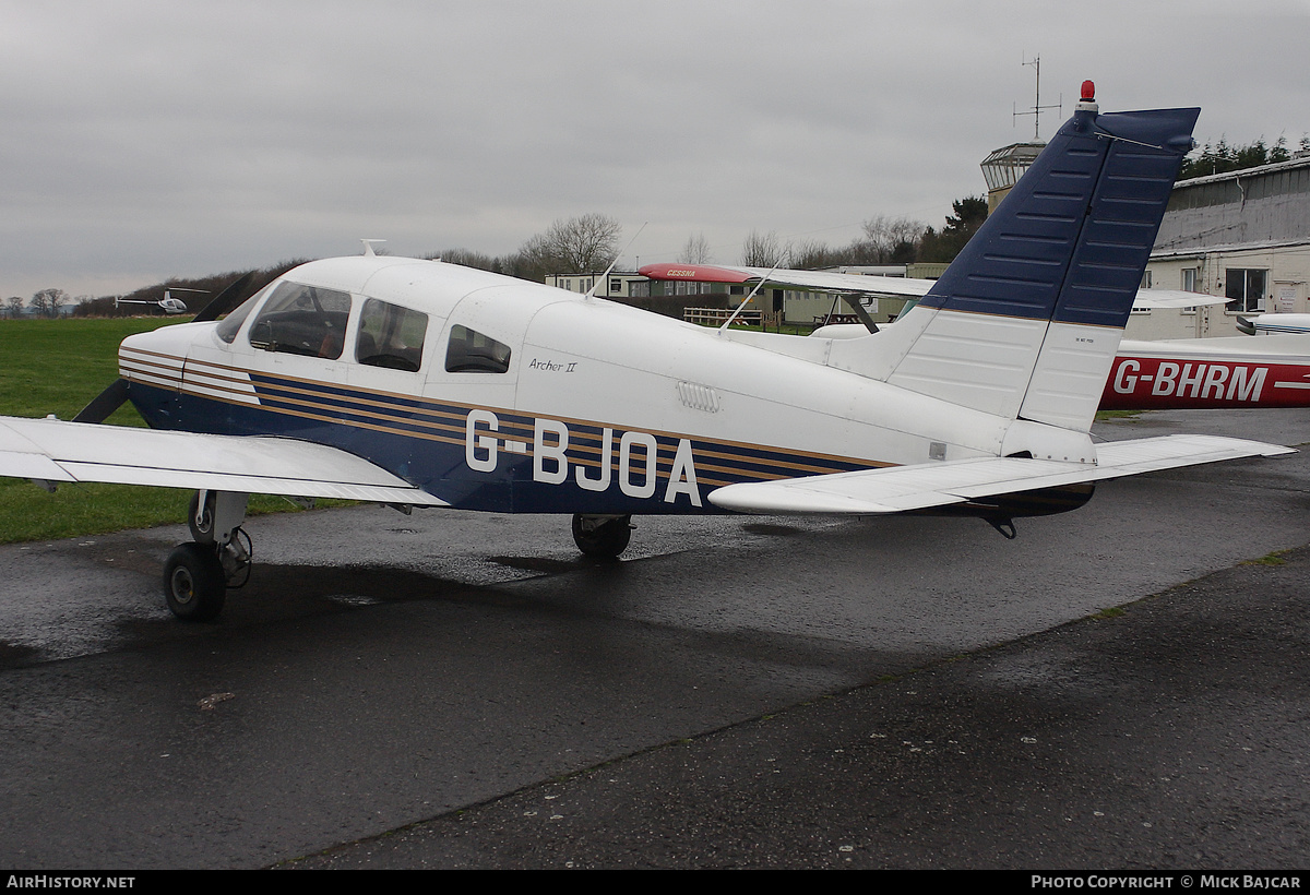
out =
<svg viewBox="0 0 1310 895"><path fill-rule="evenodd" d="M1199 109L1083 101L924 300L834 366L1086 431Z"/></svg>

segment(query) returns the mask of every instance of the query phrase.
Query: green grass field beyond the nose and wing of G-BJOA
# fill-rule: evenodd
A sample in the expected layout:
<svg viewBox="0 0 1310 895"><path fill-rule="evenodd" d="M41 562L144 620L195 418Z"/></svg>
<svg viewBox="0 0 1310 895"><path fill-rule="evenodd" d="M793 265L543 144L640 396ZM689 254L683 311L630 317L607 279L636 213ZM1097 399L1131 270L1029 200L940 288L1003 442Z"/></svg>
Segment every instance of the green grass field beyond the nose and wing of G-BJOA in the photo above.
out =
<svg viewBox="0 0 1310 895"><path fill-rule="evenodd" d="M118 377L118 343L177 318L0 320L0 415L72 419ZM131 405L109 422L144 426ZM189 494L130 485L60 485L50 494L21 478L0 478L0 544L100 535L181 523ZM295 507L253 495L250 515Z"/></svg>

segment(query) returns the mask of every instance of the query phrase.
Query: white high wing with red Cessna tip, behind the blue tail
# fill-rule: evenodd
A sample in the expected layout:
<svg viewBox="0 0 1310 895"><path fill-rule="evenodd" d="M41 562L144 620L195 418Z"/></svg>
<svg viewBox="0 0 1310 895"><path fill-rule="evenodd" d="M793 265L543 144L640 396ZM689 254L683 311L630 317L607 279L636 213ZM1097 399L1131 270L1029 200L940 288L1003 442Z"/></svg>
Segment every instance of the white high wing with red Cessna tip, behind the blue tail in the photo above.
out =
<svg viewBox="0 0 1310 895"><path fill-rule="evenodd" d="M659 280L688 280L693 283L734 283L756 286L760 280L777 288L799 292L828 292L834 295L867 295L889 297L922 297L933 288L934 280L909 276L870 276L865 274L837 274L828 270L769 270L768 267L735 267L731 265L646 265L638 270L642 276ZM1201 295L1182 290L1137 290L1134 308L1195 308L1199 305L1227 304L1221 295Z"/></svg>

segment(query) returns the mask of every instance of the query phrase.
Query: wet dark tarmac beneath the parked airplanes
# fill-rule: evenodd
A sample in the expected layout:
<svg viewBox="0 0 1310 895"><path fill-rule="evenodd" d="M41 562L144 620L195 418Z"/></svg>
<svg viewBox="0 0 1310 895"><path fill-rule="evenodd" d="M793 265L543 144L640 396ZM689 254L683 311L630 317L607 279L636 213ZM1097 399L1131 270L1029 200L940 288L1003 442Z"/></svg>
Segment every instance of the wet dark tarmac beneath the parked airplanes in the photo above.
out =
<svg viewBox="0 0 1310 895"><path fill-rule="evenodd" d="M1098 427L1169 431L1310 417ZM592 563L561 518L259 518L211 625L157 594L182 529L0 548L0 860L1305 866L1307 505L1298 453L1015 541L639 519Z"/></svg>

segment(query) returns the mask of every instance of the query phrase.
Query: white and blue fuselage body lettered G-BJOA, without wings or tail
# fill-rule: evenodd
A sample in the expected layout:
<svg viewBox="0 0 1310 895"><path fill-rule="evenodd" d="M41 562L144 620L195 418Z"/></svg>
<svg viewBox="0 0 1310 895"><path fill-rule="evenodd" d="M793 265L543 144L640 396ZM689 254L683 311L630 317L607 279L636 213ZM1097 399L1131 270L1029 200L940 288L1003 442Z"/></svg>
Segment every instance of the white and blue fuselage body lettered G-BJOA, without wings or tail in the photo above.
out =
<svg viewBox="0 0 1310 895"><path fill-rule="evenodd" d="M301 338L308 349L265 338L271 287L234 333L189 324L124 341L128 397L152 427L329 444L460 508L625 515L714 511L706 494L735 482L996 456L1007 426L715 330L455 265L337 258L288 280L350 296L326 351L317 332ZM410 326L418 345L394 355L415 368L363 362L371 301L423 317ZM469 368L456 355L470 333L479 356L504 359Z"/></svg>

